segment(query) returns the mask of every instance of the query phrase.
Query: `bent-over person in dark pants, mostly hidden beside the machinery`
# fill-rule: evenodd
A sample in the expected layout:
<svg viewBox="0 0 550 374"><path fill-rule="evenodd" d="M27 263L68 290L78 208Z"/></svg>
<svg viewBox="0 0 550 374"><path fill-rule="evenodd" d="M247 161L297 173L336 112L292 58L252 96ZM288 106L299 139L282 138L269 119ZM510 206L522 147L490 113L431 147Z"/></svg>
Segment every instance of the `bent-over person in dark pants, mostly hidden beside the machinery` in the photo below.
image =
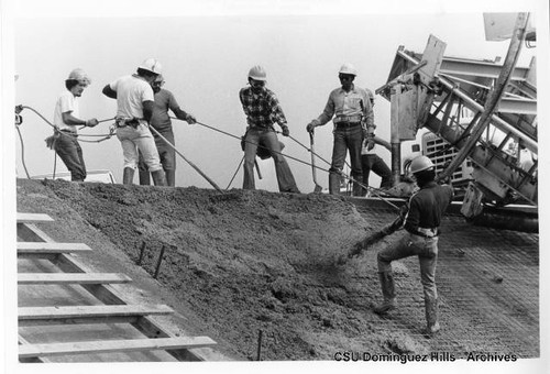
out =
<svg viewBox="0 0 550 374"><path fill-rule="evenodd" d="M374 144L369 144L370 142ZM361 166L363 170L363 185L369 186L369 175L371 170L382 178L381 188L389 189L392 188L392 169L386 165L384 160L376 154L376 144L384 146L386 150L392 152L392 144L378 136L373 136L369 141L363 140L363 146L361 147ZM362 196L367 195L367 189L363 188Z"/></svg>

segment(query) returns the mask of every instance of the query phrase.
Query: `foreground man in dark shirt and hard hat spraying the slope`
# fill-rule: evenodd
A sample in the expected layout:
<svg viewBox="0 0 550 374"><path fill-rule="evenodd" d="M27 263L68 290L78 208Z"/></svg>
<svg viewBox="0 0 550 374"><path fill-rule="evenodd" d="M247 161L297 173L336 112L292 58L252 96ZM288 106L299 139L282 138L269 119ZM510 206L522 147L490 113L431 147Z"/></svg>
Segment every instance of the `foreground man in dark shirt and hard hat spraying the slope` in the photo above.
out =
<svg viewBox="0 0 550 374"><path fill-rule="evenodd" d="M407 206L402 210L402 216L393 224L394 230L405 228L403 237L377 254L378 278L384 302L376 306L374 312L384 315L396 308L392 261L418 255L426 307L425 332L432 336L440 330L436 287L439 226L441 216L452 200L453 190L450 185L440 186L435 182L433 163L426 156L413 160L410 173L420 189L410 197Z"/></svg>

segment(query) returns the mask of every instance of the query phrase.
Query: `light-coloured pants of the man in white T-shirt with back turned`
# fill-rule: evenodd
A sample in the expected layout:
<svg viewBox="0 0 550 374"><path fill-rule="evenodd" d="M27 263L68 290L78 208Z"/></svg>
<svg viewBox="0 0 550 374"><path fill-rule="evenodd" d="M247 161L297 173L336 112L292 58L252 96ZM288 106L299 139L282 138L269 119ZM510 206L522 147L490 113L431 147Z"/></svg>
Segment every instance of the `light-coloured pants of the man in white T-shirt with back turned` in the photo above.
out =
<svg viewBox="0 0 550 374"><path fill-rule="evenodd" d="M150 172L162 170L158 151L156 150L155 140L148 130L148 127L140 122L136 129L131 125L117 129L117 138L122 145L124 155L124 167L135 169L140 160L138 150L143 154L143 161Z"/></svg>

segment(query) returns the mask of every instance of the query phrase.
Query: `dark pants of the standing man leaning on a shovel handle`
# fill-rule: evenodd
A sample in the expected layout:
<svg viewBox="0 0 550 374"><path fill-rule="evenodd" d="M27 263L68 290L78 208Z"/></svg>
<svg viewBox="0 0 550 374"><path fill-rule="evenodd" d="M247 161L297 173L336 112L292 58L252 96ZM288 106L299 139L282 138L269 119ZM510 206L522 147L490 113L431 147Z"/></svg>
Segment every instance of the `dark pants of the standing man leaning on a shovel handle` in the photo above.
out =
<svg viewBox="0 0 550 374"><path fill-rule="evenodd" d="M329 184L330 178L340 177L348 151L350 151L351 177L358 182L362 182L363 168L361 166L361 145L363 143L363 130L361 125L336 129L333 134L334 145L332 147L332 164L330 165L330 174L332 174L332 177L329 175ZM360 196L361 190L361 186L358 183L353 183L353 196ZM336 190L331 191L331 194L338 193L339 191Z"/></svg>

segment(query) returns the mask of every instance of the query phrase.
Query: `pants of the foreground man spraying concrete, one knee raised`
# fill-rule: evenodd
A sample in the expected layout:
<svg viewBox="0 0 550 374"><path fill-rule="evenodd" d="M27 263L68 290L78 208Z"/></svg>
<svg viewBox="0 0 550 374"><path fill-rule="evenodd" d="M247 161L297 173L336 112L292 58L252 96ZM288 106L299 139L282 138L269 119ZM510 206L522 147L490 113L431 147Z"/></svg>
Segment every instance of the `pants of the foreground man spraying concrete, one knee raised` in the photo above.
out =
<svg viewBox="0 0 550 374"><path fill-rule="evenodd" d="M403 237L378 252L378 272L391 272L392 261L415 255L418 256L418 261L420 262L420 282L424 288L424 296L428 299L437 299L436 265L438 262L438 237L424 238L405 232Z"/></svg>

